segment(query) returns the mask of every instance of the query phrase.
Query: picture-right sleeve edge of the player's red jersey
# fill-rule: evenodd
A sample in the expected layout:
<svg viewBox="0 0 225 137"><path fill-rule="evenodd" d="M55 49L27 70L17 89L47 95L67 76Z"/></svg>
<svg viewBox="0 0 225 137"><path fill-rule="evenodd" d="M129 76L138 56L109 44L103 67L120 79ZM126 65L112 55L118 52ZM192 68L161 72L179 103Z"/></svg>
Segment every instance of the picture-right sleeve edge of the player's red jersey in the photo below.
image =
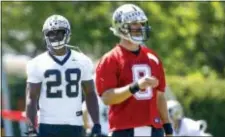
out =
<svg viewBox="0 0 225 137"><path fill-rule="evenodd" d="M157 90L161 92L165 92L165 88L166 88L165 72L164 72L163 64L161 61L159 62L158 70L159 70L159 75L158 75L159 85L157 87Z"/></svg>

